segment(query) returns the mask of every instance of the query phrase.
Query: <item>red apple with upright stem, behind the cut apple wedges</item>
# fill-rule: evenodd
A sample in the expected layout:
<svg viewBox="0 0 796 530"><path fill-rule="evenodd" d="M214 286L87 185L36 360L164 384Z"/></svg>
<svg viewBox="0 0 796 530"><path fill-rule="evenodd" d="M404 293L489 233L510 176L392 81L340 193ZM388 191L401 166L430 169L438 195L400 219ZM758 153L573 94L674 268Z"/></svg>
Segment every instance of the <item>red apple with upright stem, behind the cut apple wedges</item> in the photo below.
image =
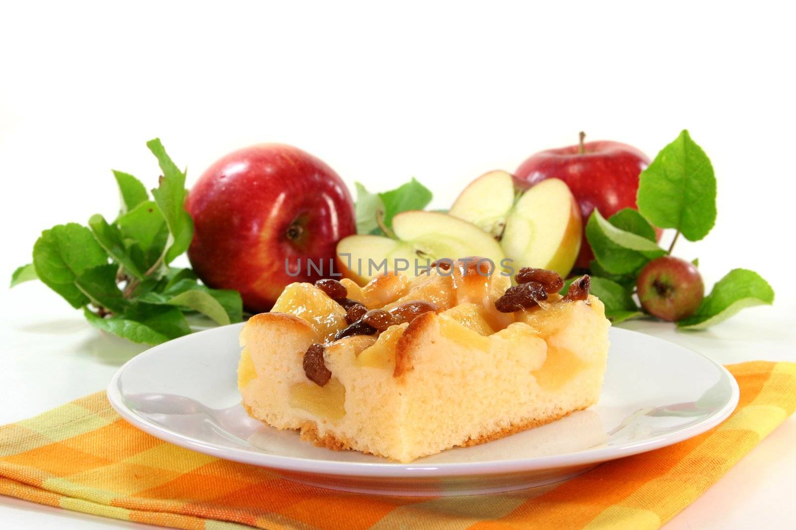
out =
<svg viewBox="0 0 796 530"><path fill-rule="evenodd" d="M650 159L638 149L617 141L589 141L560 149L540 151L520 164L514 172L517 187L527 189L544 179L561 179L567 183L578 201L583 229L595 207L608 218L622 208L636 208L638 174ZM660 231L657 231L660 238ZM594 259L583 234L583 244L575 262L578 269L587 269Z"/></svg>

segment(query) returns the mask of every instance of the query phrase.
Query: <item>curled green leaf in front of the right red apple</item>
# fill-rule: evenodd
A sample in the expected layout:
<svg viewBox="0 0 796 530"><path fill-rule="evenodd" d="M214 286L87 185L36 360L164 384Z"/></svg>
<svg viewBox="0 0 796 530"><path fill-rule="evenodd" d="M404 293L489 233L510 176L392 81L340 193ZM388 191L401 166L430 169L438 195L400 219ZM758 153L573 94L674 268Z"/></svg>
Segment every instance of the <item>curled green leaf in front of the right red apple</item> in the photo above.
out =
<svg viewBox="0 0 796 530"><path fill-rule="evenodd" d="M586 223L586 238L597 262L603 270L614 275L637 273L648 261L666 253L654 241L654 230L652 240L646 237L649 235L646 227L651 228L649 223L645 227L640 222L643 219L640 215L635 218L623 212L618 212L618 217L612 216L611 220L606 220L595 208ZM614 223L637 231L624 230Z"/></svg>

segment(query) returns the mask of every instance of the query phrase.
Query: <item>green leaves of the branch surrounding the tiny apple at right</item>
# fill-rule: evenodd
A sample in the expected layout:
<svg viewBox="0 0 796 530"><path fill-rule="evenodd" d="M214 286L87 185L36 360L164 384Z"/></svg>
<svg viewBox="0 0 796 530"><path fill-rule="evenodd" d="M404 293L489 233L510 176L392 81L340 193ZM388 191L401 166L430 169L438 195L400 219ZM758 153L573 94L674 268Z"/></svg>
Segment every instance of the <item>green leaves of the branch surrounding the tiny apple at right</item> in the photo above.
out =
<svg viewBox="0 0 796 530"><path fill-rule="evenodd" d="M634 294L638 274L647 263L671 254L681 234L699 241L716 224L716 176L710 159L687 130L641 173L636 203L638 211L627 208L609 219L595 210L586 225L595 253L592 292L603 300L606 315L614 322L644 315ZM657 246L653 224L675 230L668 250ZM677 326L704 329L743 308L773 302L774 290L759 274L734 269L704 297L696 314Z"/></svg>

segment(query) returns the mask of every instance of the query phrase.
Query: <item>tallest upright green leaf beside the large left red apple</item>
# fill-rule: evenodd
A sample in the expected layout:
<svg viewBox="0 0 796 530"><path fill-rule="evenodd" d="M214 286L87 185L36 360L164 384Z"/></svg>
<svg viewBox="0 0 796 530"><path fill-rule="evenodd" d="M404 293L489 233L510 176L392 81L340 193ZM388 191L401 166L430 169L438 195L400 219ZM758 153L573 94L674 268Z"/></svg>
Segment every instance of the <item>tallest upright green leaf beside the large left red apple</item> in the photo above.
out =
<svg viewBox="0 0 796 530"><path fill-rule="evenodd" d="M163 257L163 261L169 265L175 257L188 250L193 238L193 219L185 210L185 173L171 161L160 138L147 141L146 146L158 158L163 172L160 185L152 190L152 195L171 234L170 245Z"/></svg>

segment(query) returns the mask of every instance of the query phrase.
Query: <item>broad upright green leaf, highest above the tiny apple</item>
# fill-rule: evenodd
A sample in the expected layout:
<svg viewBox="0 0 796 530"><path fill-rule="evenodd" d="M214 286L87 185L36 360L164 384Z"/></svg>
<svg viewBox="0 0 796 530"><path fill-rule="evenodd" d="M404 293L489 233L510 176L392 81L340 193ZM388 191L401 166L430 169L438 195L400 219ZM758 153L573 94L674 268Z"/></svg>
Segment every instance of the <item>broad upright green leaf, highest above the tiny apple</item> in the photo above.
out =
<svg viewBox="0 0 796 530"><path fill-rule="evenodd" d="M642 171L636 202L655 226L677 229L689 241L708 235L716 223L716 176L688 130Z"/></svg>

